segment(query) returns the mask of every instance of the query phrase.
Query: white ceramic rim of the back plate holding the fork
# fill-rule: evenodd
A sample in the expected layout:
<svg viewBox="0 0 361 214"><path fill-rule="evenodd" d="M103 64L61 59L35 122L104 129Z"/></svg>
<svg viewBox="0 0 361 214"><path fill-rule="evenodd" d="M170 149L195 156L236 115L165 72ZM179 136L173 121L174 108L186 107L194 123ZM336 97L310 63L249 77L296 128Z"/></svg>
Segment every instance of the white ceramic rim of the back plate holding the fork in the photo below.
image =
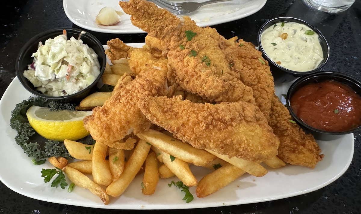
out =
<svg viewBox="0 0 361 214"><path fill-rule="evenodd" d="M74 24L76 24L79 27L82 27L84 29L87 30L91 30L91 31L95 31L95 32L101 32L101 33L110 33L110 34L140 34L140 33L145 33L143 30L141 30L140 28L136 28L134 27L133 29L129 29L129 28L124 28L122 29L122 27L120 27L120 29L108 29L108 28L100 28L100 27L93 27L87 24L84 24L82 22L79 22L77 19L75 19L72 15L72 13L70 12L70 10L68 9L67 4L70 3L72 0L63 0L63 8L64 8L64 12L66 14L66 16L69 18L69 20L71 22L73 22ZM80 0L80 1L87 1L87 0ZM205 27L205 26L213 26L216 24L222 24L222 23L226 23L226 22L231 22L231 21L235 21L237 19L242 19L244 17L248 17L249 15L252 15L256 12L258 12L260 9L263 8L263 6L266 4L267 0L260 0L261 4L258 5L257 8L254 8L252 10L247 11L246 13L243 14L238 14L238 15L225 15L225 18L219 18L217 21L209 21L209 22L202 22L200 24L197 24L200 27ZM190 17L193 18L193 15L190 14ZM87 20L90 21L90 20Z"/></svg>

